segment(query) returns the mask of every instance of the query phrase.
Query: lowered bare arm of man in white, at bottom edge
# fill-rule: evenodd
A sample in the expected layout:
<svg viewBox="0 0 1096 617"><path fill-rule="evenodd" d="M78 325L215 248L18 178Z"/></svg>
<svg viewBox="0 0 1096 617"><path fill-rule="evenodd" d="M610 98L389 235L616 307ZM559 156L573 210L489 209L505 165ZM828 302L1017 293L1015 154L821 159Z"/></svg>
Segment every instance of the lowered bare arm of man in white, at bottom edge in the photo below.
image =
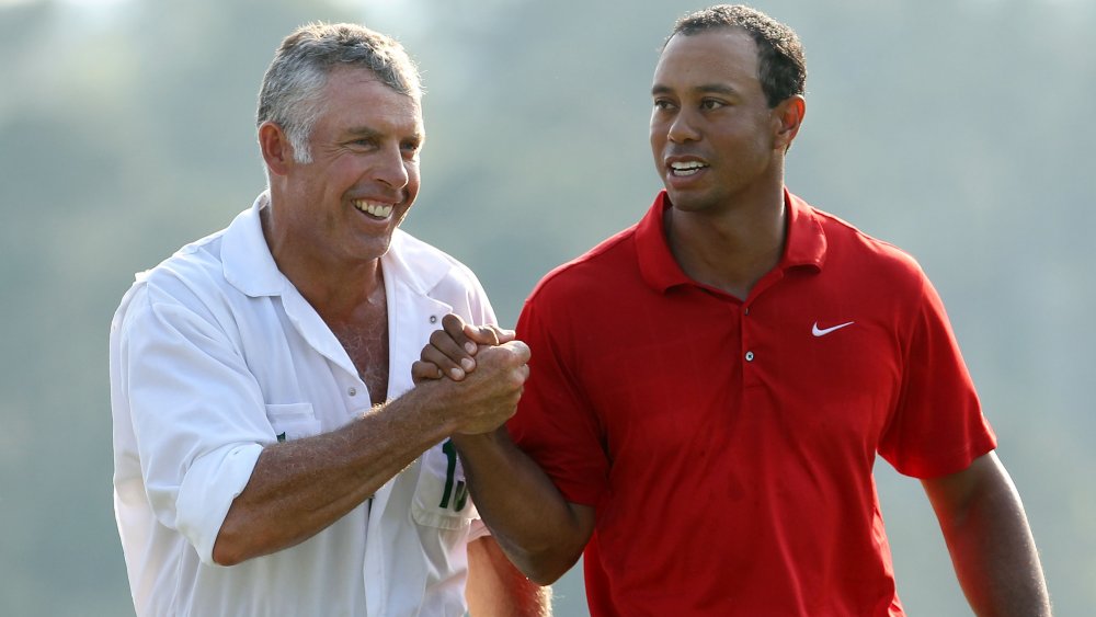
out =
<svg viewBox="0 0 1096 617"><path fill-rule="evenodd" d="M468 545L468 585L472 617L551 617L551 587L525 578L490 536Z"/></svg>

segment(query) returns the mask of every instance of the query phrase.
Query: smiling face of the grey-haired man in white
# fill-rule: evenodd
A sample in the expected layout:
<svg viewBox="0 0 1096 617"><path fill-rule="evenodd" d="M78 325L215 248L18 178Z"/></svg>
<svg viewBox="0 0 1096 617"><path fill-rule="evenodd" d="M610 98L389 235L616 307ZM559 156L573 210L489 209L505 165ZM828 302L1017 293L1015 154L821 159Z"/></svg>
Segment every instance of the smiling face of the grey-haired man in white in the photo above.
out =
<svg viewBox="0 0 1096 617"><path fill-rule="evenodd" d="M329 273L375 265L419 193L424 133L415 99L367 69L339 68L320 108L309 138L311 162L286 156L271 165L267 241L283 271L287 260ZM266 149L264 144L264 155Z"/></svg>

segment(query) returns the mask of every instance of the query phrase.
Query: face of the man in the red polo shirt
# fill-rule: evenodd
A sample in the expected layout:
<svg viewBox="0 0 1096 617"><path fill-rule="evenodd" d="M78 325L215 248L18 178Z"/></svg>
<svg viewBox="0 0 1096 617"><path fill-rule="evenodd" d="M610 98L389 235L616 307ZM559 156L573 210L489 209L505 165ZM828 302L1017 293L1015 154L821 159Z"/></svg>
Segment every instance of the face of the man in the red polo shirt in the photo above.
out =
<svg viewBox="0 0 1096 617"><path fill-rule="evenodd" d="M674 35L654 70L651 150L674 207L721 212L784 183L780 105L769 108L757 46L738 28Z"/></svg>

